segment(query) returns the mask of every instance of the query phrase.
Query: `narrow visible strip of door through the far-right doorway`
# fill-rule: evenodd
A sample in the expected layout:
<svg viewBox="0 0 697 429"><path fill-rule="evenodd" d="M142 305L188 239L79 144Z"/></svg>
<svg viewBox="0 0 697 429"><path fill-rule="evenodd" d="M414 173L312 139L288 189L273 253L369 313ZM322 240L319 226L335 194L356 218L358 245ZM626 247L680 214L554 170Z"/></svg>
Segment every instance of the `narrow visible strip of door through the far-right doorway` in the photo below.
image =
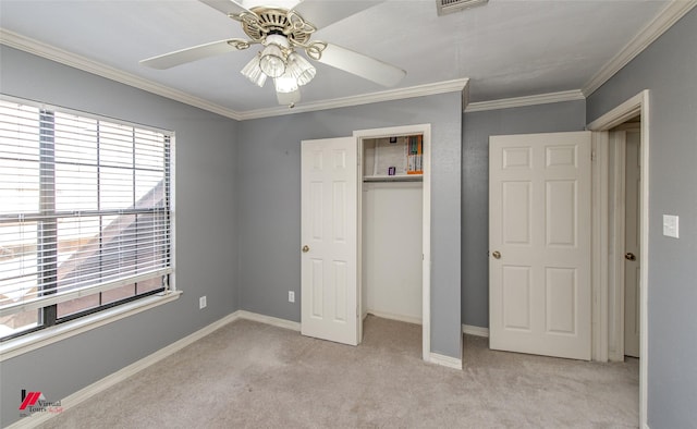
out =
<svg viewBox="0 0 697 429"><path fill-rule="evenodd" d="M641 195L641 135L626 133L624 223L624 354L639 357L639 201Z"/></svg>

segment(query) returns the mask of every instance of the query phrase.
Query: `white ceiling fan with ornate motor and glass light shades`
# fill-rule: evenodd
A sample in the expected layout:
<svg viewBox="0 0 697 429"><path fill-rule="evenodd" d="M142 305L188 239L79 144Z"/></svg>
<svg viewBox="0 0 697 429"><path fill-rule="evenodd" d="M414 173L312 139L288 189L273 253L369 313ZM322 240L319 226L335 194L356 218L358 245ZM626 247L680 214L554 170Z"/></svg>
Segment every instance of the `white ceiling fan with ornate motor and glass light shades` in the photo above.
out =
<svg viewBox="0 0 697 429"><path fill-rule="evenodd" d="M398 66L326 41L310 40L319 28L372 7L380 1L327 0L292 1L290 8L254 5L245 8L233 0L199 0L239 21L248 39L224 39L181 49L140 61L142 64L164 70L259 44L264 48L242 69L241 73L262 87L271 77L279 103L289 107L299 101L299 87L317 73L308 59L355 74L383 86L396 85L406 72ZM247 0L249 2L250 0ZM270 0L279 3L280 0ZM288 0L285 0L288 3ZM308 20L305 19L308 17Z"/></svg>

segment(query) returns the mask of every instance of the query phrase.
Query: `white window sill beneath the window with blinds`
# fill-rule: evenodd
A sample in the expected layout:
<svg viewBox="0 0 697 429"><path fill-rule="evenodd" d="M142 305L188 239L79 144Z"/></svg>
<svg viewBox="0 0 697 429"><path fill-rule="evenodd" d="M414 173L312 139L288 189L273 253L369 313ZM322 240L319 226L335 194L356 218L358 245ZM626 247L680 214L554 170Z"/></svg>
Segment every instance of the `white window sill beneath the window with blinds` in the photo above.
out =
<svg viewBox="0 0 697 429"><path fill-rule="evenodd" d="M42 329L34 333L9 340L0 344L0 361L11 359L24 353L65 340L91 329L99 328L107 323L145 311L149 308L176 301L181 294L181 291L174 291L167 295L149 296L147 298L137 299L105 311L95 312L94 315L81 317L56 327Z"/></svg>

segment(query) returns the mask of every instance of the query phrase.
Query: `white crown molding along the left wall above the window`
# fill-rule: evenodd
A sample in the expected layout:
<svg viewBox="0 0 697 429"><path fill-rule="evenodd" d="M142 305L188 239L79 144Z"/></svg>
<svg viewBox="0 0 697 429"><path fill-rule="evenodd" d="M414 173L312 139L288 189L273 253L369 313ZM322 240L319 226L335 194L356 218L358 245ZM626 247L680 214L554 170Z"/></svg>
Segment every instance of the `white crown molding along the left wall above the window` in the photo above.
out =
<svg viewBox="0 0 697 429"><path fill-rule="evenodd" d="M222 106L206 101L198 97L191 96L184 91L157 84L152 81L148 81L134 74L120 71L109 65L105 65L76 53L72 53L66 50L50 46L48 44L30 39L4 28L0 28L0 44L46 58L51 61L59 62L64 65L69 65L71 68L96 74L111 81L120 82L122 84L126 84L129 86L146 90L148 93L181 101L183 103L194 106L209 112L218 113L220 115L236 120L240 119L240 114L237 112L227 109Z"/></svg>

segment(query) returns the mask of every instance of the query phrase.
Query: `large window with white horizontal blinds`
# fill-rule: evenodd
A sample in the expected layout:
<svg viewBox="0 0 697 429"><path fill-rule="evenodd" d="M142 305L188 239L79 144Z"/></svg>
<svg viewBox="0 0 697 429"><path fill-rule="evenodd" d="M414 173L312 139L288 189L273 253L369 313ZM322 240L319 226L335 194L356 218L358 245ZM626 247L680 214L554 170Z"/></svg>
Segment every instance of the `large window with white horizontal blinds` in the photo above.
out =
<svg viewBox="0 0 697 429"><path fill-rule="evenodd" d="M0 339L169 290L171 146L0 99Z"/></svg>

